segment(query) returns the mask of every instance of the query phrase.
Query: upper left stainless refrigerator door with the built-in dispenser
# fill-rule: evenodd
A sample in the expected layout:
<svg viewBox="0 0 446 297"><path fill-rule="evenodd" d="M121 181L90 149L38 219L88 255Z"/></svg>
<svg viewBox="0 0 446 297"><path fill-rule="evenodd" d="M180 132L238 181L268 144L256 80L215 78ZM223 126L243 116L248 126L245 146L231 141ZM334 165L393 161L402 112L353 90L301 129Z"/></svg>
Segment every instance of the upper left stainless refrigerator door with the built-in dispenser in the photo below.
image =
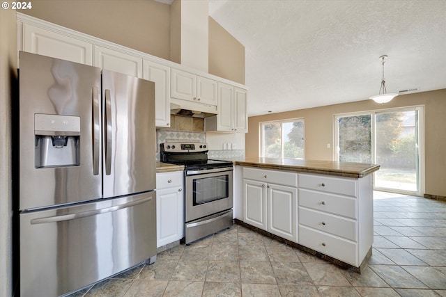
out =
<svg viewBox="0 0 446 297"><path fill-rule="evenodd" d="M20 52L20 209L101 198L100 89L100 68Z"/></svg>

